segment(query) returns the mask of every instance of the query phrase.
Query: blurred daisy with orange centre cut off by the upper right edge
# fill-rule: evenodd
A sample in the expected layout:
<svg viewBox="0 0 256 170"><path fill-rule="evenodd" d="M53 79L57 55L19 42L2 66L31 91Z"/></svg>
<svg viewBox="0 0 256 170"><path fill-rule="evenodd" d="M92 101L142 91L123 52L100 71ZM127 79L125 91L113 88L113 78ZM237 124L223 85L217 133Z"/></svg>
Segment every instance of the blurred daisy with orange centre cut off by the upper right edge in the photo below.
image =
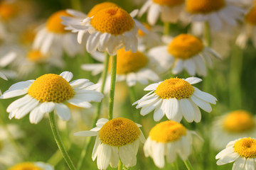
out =
<svg viewBox="0 0 256 170"><path fill-rule="evenodd" d="M236 44L245 48L247 41L252 40L253 45L256 47L256 5L253 6L245 16L245 27L238 35Z"/></svg>

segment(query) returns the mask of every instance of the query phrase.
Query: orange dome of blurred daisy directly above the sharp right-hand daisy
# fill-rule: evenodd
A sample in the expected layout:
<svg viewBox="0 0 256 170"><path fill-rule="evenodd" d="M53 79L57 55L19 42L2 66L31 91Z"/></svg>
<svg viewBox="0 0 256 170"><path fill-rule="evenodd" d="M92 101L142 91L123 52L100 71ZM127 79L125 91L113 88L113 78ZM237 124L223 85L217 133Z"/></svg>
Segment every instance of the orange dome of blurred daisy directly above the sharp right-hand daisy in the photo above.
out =
<svg viewBox="0 0 256 170"><path fill-rule="evenodd" d="M203 50L203 42L193 35L176 36L168 46L168 52L176 58L186 60Z"/></svg>

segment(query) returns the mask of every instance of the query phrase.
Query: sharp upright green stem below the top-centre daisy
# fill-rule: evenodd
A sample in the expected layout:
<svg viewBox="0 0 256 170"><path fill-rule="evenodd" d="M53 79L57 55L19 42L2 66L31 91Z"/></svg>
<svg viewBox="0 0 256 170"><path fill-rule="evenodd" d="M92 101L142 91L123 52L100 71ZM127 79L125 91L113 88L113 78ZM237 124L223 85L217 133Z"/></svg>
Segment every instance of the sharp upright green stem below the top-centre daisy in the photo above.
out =
<svg viewBox="0 0 256 170"><path fill-rule="evenodd" d="M114 87L117 77L117 55L111 57L111 83L110 83L110 105L108 119L113 118L113 108L114 108Z"/></svg>

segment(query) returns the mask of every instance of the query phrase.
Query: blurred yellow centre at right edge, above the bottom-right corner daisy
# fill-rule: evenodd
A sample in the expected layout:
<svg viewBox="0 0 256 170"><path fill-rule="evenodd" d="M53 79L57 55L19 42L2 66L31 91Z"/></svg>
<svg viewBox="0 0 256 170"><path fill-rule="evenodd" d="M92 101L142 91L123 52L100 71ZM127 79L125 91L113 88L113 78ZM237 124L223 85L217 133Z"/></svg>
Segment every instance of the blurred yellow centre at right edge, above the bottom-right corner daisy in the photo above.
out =
<svg viewBox="0 0 256 170"><path fill-rule="evenodd" d="M253 116L247 111L233 111L226 115L223 125L229 132L246 132L255 128Z"/></svg>

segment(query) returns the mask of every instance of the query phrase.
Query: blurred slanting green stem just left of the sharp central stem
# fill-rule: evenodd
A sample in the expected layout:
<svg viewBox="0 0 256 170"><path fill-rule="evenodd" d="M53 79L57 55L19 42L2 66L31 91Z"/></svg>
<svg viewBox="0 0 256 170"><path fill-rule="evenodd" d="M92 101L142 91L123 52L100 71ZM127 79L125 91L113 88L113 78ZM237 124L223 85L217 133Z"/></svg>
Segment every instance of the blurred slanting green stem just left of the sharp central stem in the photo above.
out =
<svg viewBox="0 0 256 170"><path fill-rule="evenodd" d="M105 52L105 62L104 62L104 69L102 72L102 86L100 89L100 92L103 94L104 93L104 89L105 89L105 84L106 84L106 79L107 79L107 69L109 66L109 60L110 60L110 55L107 54L107 52ZM97 123L97 120L100 117L100 108L101 108L102 102L97 103L96 106L96 111L95 111L95 117L93 118L93 123L92 123L92 128L95 126L95 124ZM87 150L90 146L90 143L92 142L92 137L88 137L87 140L85 141L84 146L82 147L82 152L80 155L80 158L78 160L78 170L80 170L82 168L82 164L84 163L84 159L87 155Z"/></svg>

